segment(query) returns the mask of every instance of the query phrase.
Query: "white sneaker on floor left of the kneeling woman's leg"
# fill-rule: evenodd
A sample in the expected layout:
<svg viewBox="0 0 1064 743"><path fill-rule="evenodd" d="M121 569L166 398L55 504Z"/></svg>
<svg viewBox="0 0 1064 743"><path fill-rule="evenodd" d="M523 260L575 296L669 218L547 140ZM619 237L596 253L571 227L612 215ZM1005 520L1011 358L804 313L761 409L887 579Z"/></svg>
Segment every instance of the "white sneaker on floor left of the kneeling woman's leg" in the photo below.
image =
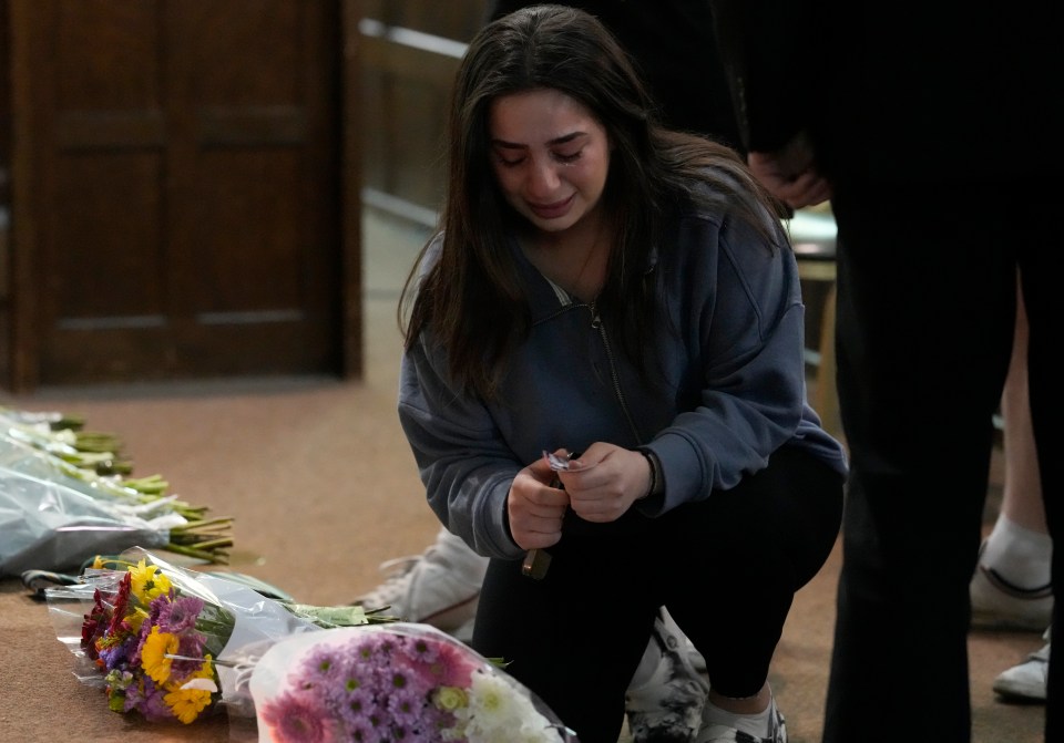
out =
<svg viewBox="0 0 1064 743"><path fill-rule="evenodd" d="M403 621L432 625L460 640L470 639L487 557L440 529L436 543L420 555L397 557L380 567L391 575L351 603L367 611L387 609L386 613Z"/></svg>

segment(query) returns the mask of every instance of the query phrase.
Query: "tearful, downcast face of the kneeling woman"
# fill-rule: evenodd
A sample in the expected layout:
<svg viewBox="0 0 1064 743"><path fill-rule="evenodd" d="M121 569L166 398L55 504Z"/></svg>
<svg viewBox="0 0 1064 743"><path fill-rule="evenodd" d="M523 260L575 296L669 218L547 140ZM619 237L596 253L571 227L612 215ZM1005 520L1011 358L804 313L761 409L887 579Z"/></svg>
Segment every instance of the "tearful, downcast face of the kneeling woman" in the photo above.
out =
<svg viewBox="0 0 1064 743"><path fill-rule="evenodd" d="M551 89L505 95L488 126L499 187L535 227L560 233L598 205L610 137L583 104Z"/></svg>

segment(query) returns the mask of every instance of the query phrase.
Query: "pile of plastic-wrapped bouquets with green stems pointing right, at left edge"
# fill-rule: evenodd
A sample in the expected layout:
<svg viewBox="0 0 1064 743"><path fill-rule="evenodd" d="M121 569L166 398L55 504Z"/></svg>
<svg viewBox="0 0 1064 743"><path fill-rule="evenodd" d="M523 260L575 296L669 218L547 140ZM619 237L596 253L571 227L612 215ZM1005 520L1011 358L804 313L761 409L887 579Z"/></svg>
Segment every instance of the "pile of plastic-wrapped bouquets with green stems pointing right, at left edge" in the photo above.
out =
<svg viewBox="0 0 1064 743"><path fill-rule="evenodd" d="M0 577L71 570L135 545L227 561L232 518L168 495L160 475L131 477L122 442L83 426L0 407Z"/></svg>

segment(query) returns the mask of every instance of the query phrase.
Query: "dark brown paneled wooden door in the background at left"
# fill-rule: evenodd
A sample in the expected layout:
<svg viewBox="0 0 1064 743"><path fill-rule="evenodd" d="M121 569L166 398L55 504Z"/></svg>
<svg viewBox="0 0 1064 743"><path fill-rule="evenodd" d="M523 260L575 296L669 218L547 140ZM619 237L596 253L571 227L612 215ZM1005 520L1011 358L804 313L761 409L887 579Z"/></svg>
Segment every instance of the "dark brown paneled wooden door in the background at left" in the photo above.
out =
<svg viewBox="0 0 1064 743"><path fill-rule="evenodd" d="M351 371L340 4L9 9L12 388Z"/></svg>

